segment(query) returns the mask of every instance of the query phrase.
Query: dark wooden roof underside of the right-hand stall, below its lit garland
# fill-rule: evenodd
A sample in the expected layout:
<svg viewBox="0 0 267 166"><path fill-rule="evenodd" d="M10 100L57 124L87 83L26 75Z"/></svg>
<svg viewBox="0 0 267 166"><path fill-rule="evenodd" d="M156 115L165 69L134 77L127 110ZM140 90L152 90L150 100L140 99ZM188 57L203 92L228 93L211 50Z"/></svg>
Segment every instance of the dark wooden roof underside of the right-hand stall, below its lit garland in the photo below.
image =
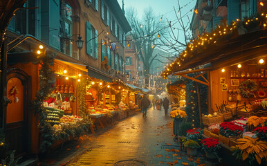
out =
<svg viewBox="0 0 267 166"><path fill-rule="evenodd" d="M175 72L196 68L203 64L211 64L210 70L217 70L226 66L245 62L257 57L264 57L267 53L267 30L257 30L234 39L217 42L212 48L203 50L194 57L185 60ZM174 74L176 75L176 74Z"/></svg>

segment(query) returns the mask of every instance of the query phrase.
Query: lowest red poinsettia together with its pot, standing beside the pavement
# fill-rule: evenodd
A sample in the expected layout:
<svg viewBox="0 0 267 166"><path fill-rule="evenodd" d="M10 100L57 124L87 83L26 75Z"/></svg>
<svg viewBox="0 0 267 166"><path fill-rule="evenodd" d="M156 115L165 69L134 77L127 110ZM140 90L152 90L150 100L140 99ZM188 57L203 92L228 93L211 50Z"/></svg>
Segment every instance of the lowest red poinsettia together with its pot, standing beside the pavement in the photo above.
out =
<svg viewBox="0 0 267 166"><path fill-rule="evenodd" d="M209 159L216 159L218 158L219 161L221 158L218 156L218 151L221 148L221 145L219 145L219 140L214 138L205 138L201 140L201 145L203 151L205 151L205 155Z"/></svg>

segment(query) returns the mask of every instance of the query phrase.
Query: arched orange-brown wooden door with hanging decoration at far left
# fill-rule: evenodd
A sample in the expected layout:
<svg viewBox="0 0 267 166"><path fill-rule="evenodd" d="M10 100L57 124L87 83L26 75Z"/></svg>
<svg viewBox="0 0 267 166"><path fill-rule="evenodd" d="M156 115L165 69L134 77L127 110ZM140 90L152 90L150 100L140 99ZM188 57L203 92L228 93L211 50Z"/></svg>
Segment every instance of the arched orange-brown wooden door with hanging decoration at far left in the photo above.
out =
<svg viewBox="0 0 267 166"><path fill-rule="evenodd" d="M30 136L28 131L28 82L29 77L23 71L8 73L6 111L6 142L10 150L16 150L16 156L28 154Z"/></svg>

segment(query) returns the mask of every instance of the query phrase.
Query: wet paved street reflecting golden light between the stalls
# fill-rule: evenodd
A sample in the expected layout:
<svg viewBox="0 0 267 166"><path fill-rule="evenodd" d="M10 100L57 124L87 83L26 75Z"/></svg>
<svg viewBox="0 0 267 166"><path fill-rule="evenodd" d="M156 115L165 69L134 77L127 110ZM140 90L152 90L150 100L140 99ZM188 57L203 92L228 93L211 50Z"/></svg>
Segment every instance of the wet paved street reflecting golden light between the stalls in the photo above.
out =
<svg viewBox="0 0 267 166"><path fill-rule="evenodd" d="M84 135L56 149L41 165L200 165L203 156L190 157L174 142L172 118L164 111L147 111L147 118L137 112L95 134ZM199 153L200 154L200 153ZM201 159L199 161L199 159ZM128 163L128 164L127 164ZM138 164L136 164L138 165Z"/></svg>

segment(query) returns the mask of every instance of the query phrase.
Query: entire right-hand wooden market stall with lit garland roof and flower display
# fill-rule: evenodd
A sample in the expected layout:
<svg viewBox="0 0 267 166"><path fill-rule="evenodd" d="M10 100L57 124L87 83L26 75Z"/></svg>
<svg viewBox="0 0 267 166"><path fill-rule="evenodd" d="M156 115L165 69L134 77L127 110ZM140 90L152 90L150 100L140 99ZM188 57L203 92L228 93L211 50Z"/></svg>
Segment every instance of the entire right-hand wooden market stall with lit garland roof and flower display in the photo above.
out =
<svg viewBox="0 0 267 166"><path fill-rule="evenodd" d="M235 158L266 165L266 34L264 13L217 26L188 44L162 74L190 80L185 107L187 116L193 114L189 122L196 122L198 111L205 141L219 140L220 156L227 165L237 163Z"/></svg>

